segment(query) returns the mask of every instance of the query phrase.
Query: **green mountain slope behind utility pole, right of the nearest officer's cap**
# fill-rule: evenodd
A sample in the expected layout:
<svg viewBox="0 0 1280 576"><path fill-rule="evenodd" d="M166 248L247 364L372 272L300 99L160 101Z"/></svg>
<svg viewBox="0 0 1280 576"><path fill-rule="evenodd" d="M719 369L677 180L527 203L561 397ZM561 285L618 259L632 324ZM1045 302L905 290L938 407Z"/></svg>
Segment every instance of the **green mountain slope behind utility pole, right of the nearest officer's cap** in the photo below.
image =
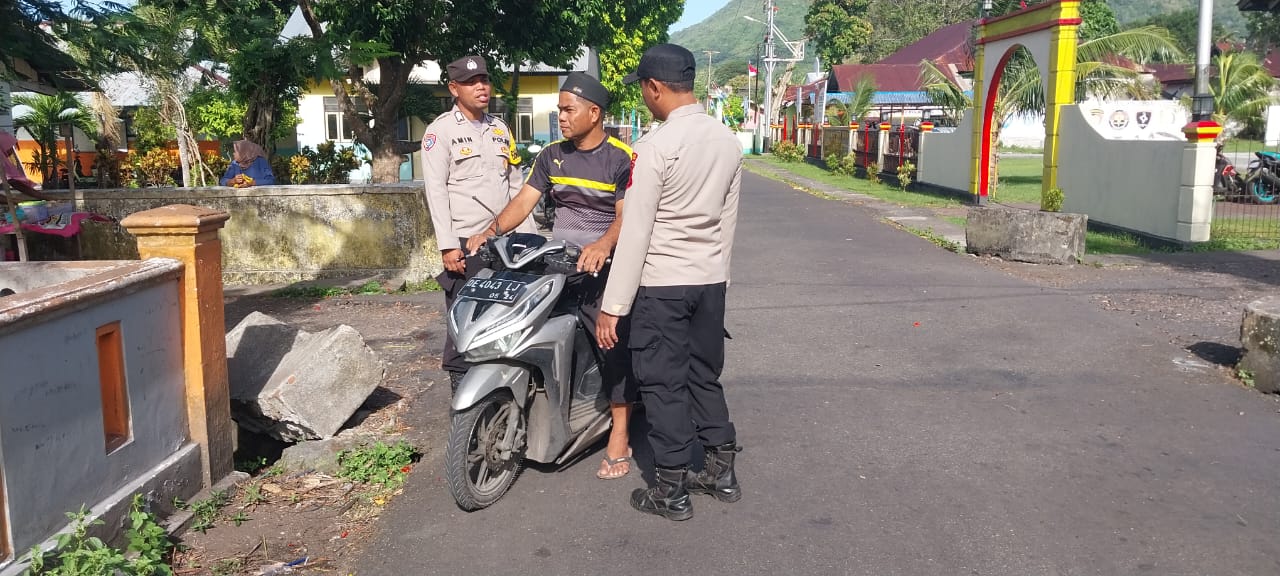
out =
<svg viewBox="0 0 1280 576"><path fill-rule="evenodd" d="M788 40L800 40L804 36L804 15L809 12L809 0L777 0L778 12L773 23ZM671 35L671 42L678 44L699 58L699 70L707 65L704 50L716 50L719 54L712 55L713 63L731 61L745 63L755 60L755 47L764 41L764 24L748 20L742 17L751 17L760 22L764 18L764 3L760 0L730 0L724 8L707 17L689 28ZM782 56L774 49L774 54ZM810 64L812 67L812 64ZM745 72L745 70L742 70Z"/></svg>

